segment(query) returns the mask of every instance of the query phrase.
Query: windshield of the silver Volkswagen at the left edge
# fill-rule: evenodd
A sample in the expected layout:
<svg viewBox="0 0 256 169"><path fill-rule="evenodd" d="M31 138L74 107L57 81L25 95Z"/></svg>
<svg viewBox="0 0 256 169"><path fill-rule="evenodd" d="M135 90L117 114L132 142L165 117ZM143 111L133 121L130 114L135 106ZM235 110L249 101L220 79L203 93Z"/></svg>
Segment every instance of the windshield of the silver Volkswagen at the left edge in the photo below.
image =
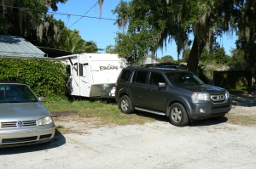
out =
<svg viewBox="0 0 256 169"><path fill-rule="evenodd" d="M31 89L22 84L0 84L0 103L37 102Z"/></svg>

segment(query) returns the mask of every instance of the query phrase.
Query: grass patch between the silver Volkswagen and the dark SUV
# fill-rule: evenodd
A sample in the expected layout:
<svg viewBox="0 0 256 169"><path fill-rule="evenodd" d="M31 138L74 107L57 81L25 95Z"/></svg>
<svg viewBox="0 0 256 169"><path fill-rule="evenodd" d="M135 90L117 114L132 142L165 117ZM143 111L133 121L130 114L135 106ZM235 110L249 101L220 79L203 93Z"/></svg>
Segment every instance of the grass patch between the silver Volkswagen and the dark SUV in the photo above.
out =
<svg viewBox="0 0 256 169"><path fill-rule="evenodd" d="M136 114L125 115L121 113L116 103L108 104L104 101L93 100L58 100L45 102L44 106L50 111L76 111L79 117L97 117L105 124L132 125L154 121L153 118Z"/></svg>

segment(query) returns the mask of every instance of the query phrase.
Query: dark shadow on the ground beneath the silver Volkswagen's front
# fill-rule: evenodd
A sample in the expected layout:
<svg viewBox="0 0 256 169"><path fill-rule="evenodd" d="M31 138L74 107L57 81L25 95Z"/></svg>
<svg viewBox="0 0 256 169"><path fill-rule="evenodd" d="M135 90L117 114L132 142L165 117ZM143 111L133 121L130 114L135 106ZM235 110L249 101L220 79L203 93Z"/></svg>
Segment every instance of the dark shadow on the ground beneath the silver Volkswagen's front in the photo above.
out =
<svg viewBox="0 0 256 169"><path fill-rule="evenodd" d="M56 147L60 147L61 145L66 144L66 138L56 130L55 137L50 143L47 144L34 144L34 145L25 145L20 147L7 147L0 149L0 155L15 155L28 153L33 151L42 151L47 149L55 149Z"/></svg>

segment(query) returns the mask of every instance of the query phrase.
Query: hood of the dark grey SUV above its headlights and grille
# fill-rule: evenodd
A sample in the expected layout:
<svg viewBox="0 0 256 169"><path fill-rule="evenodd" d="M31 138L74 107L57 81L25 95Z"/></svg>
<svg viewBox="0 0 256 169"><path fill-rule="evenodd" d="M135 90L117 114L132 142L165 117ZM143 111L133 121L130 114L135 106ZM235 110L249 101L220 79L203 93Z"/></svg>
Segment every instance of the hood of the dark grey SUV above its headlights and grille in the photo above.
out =
<svg viewBox="0 0 256 169"><path fill-rule="evenodd" d="M210 94L225 93L225 89L221 87L214 87L211 85L199 85L199 86L189 86L182 87L183 89L189 90L191 92L207 92Z"/></svg>

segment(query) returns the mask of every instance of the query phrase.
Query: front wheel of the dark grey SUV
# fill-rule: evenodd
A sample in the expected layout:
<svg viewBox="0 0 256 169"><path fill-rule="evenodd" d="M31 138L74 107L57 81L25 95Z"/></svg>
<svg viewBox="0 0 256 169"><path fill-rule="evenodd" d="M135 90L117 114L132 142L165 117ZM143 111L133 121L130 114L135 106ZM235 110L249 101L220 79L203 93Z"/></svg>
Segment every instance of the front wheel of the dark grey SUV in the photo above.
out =
<svg viewBox="0 0 256 169"><path fill-rule="evenodd" d="M187 112L182 104L172 104L169 117L172 125L177 127L183 127L189 123Z"/></svg>

